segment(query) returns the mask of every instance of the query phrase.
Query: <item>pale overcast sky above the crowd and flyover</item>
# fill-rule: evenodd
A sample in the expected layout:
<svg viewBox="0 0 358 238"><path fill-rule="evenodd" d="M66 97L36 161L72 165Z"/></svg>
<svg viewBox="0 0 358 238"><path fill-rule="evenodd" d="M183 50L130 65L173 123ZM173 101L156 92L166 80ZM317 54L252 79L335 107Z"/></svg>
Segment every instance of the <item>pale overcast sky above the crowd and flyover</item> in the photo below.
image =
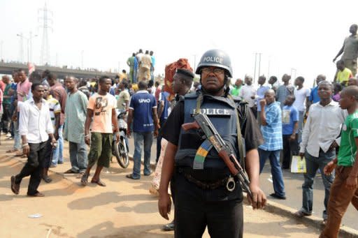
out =
<svg viewBox="0 0 358 238"><path fill-rule="evenodd" d="M0 0L2 57L20 58L21 32L33 40L33 61L40 63L43 0ZM317 74L333 80L332 59L358 23L358 1L90 1L50 0L50 64L127 69L132 52L153 50L155 73L179 58L194 68L206 50L219 48L231 57L234 77L254 75L255 52L262 53L261 74ZM27 43L24 40L24 59ZM270 63L269 63L270 62ZM269 66L269 67L268 67ZM294 68L296 73L294 73ZM257 73L258 75L258 61Z"/></svg>

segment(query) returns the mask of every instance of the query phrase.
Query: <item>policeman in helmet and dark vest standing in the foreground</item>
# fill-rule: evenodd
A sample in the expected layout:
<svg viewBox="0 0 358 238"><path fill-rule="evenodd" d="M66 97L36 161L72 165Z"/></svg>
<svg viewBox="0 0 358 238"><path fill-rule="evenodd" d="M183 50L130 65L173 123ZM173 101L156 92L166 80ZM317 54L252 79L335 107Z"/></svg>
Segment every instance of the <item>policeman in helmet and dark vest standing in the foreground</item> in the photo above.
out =
<svg viewBox="0 0 358 238"><path fill-rule="evenodd" d="M241 155L242 165L245 148L245 168L252 191L252 200L249 200L254 209L266 204L266 196L259 188L257 147L262 144L262 135L247 105L229 95L227 82L232 69L225 52L209 50L203 54L196 74L201 75L201 90L187 94L178 102L162 130L163 137L169 142L159 186L159 213L169 219L168 186L171 180L176 193L176 237L201 237L206 225L210 237L243 237L240 183L235 179L234 189L227 188L231 179L229 168L215 149L208 149L202 169L194 169L197 149L205 149L201 147L204 139L194 130L183 131L181 125L194 121L193 112L200 111L207 114L236 158Z"/></svg>

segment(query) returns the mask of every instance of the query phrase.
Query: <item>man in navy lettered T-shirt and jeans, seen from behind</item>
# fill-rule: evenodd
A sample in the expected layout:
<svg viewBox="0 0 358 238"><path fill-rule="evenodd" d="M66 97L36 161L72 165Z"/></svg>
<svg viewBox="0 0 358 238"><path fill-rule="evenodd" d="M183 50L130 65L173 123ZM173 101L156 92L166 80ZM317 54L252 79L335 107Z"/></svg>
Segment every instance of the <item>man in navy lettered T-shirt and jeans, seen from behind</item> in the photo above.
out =
<svg viewBox="0 0 358 238"><path fill-rule="evenodd" d="M149 176L150 152L152 149L153 133L158 134L157 101L155 96L147 91L148 84L145 81L138 83L138 91L131 97L127 121L127 135L131 135L131 122L133 121L134 155L133 173L127 174L129 179L141 179L141 154L144 143L144 170L143 174Z"/></svg>

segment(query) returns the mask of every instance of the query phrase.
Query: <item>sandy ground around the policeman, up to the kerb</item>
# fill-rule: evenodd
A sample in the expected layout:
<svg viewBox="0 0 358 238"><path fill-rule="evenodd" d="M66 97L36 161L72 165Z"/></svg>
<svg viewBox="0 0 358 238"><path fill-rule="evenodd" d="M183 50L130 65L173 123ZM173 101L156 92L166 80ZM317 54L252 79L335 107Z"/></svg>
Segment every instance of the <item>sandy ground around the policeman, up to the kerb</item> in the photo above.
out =
<svg viewBox="0 0 358 238"><path fill-rule="evenodd" d="M44 198L26 196L28 178L22 181L20 194L14 195L10 176L21 170L25 159L4 153L11 143L3 141L0 146L0 237L173 237L173 232L160 230L166 220L157 212L157 198L148 192L151 177L139 181L125 178L132 163L125 170L112 163L103 171L104 188L94 184L83 187L76 175L51 172L52 183L42 181L39 187ZM68 168L65 159L53 170L62 173ZM41 217L29 218L33 214ZM319 235L316 228L267 211L252 211L247 205L244 217L244 237ZM203 237L209 237L208 233Z"/></svg>

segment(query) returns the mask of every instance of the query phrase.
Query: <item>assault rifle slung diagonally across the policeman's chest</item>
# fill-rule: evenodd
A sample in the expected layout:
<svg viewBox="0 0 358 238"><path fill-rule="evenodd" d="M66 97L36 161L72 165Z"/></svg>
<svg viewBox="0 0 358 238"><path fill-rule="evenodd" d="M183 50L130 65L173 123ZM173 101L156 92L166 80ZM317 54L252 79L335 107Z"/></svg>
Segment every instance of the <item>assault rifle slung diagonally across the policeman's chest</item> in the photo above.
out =
<svg viewBox="0 0 358 238"><path fill-rule="evenodd" d="M213 147L216 149L220 158L224 161L224 163L229 168L231 174L234 177L237 177L243 186L243 191L248 193L250 198L252 199L252 192L250 191L250 181L246 177L243 168L240 163L238 163L233 151L231 151L230 147L222 140L222 137L217 133L215 127L211 123L210 119L206 114L194 114L194 122L182 124L182 129L184 131L188 131L190 129L199 129L200 133L203 133L203 137L210 141L213 144ZM240 130L240 128L237 128ZM229 184L231 182L231 184ZM233 191L235 188L235 181L231 178L231 181L228 181L227 189L229 191Z"/></svg>

